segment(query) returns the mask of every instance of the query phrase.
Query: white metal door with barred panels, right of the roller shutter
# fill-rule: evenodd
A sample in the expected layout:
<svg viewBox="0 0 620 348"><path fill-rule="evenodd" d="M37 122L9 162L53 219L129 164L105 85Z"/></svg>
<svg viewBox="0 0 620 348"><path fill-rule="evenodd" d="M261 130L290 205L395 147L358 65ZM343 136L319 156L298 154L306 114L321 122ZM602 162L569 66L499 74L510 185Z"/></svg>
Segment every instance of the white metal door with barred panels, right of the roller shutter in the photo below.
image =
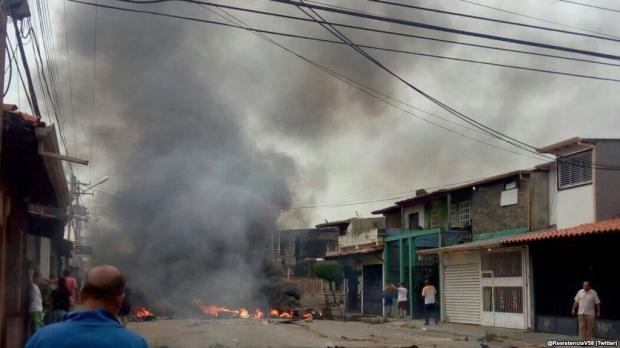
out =
<svg viewBox="0 0 620 348"><path fill-rule="evenodd" d="M521 250L481 255L482 325L525 329L524 261Z"/></svg>

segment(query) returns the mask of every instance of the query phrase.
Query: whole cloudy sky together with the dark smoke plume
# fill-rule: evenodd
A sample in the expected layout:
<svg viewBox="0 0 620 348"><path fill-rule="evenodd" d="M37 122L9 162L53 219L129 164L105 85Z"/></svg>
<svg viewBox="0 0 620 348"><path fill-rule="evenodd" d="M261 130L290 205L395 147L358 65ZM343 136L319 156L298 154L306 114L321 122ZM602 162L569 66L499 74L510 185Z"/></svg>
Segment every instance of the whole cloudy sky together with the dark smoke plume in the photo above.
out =
<svg viewBox="0 0 620 348"><path fill-rule="evenodd" d="M325 1L390 17L620 54L620 45L611 41L362 0ZM552 0L480 1L620 36L617 14L612 12ZM205 7L184 2L98 3L222 21ZM221 3L303 16L296 8L268 1ZM415 3L554 26L464 1ZM599 0L597 4L614 6L611 0ZM149 275L151 278L134 278L134 282L150 288L172 282L175 296L192 291L222 295L230 286L246 288L240 283L241 278L231 274L259 271L253 243L258 236L277 227L302 228L325 219L367 216L393 201L376 202L381 198L540 163L431 126L244 30L111 9L96 11L94 7L69 1L53 2L51 12L61 86L66 88L71 82L73 90L73 117L67 115L70 122L65 125L68 152L91 160L89 168L76 168L83 181L111 178L101 186L104 192L97 191L88 202L92 212L88 228L106 241L99 244L99 250L108 248L108 259L112 255L124 260L119 262L125 266L142 272L165 265L166 271L154 272L152 277ZM253 27L333 39L317 24L231 13ZM323 15L335 22L542 52L454 34ZM620 78L617 67L351 29L343 32L355 42L368 45ZM274 39L382 93L460 122L351 48L293 38ZM369 52L439 100L533 145L544 146L576 135L618 136L618 83ZM67 62L71 66L71 80ZM70 98L66 90L63 93L68 111ZM11 98L26 105L23 93L20 99L15 88L6 100ZM458 132L509 147L412 111ZM341 204L354 201L375 202ZM322 207L297 209L315 205ZM141 257L136 258L136 254ZM183 258L180 254L192 256ZM241 261L236 254L244 256ZM225 266L219 267L220 264ZM204 265L213 268L205 270ZM218 281L192 281L203 279L206 271L211 272L211 278L204 279ZM155 275L167 278L158 279ZM157 295L158 291L151 290L151 294ZM242 296L237 294L237 298ZM220 300L230 299L222 296Z"/></svg>

